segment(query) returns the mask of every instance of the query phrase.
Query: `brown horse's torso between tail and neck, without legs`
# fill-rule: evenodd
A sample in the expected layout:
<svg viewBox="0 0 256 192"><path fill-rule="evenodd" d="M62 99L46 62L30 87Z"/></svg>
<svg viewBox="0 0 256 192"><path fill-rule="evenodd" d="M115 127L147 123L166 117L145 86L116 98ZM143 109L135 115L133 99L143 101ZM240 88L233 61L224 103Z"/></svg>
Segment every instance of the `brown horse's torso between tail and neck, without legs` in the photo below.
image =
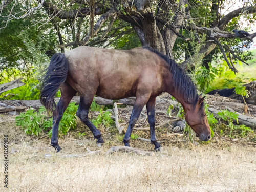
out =
<svg viewBox="0 0 256 192"><path fill-rule="evenodd" d="M80 93L90 89L98 96L120 99L136 96L138 87L157 89L162 83L161 59L143 48L115 50L81 46L65 56L70 65L67 81Z"/></svg>

